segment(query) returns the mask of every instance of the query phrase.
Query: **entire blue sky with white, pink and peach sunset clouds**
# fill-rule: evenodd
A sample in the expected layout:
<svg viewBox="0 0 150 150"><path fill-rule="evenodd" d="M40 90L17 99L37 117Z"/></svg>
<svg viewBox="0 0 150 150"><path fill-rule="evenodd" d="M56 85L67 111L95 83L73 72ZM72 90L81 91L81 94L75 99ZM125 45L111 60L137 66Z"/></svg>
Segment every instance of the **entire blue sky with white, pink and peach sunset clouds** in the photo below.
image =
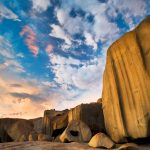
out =
<svg viewBox="0 0 150 150"><path fill-rule="evenodd" d="M0 0L0 118L96 102L108 47L149 14L149 0Z"/></svg>

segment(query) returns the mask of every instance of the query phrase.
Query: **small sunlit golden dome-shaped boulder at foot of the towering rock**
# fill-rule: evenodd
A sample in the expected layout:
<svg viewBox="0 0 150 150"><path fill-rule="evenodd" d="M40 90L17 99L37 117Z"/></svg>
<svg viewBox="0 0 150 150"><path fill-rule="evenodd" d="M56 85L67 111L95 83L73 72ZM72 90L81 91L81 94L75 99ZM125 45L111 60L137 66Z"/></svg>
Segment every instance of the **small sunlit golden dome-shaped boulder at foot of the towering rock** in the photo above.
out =
<svg viewBox="0 0 150 150"><path fill-rule="evenodd" d="M115 143L104 133L97 133L92 137L89 146L94 148L113 148Z"/></svg>

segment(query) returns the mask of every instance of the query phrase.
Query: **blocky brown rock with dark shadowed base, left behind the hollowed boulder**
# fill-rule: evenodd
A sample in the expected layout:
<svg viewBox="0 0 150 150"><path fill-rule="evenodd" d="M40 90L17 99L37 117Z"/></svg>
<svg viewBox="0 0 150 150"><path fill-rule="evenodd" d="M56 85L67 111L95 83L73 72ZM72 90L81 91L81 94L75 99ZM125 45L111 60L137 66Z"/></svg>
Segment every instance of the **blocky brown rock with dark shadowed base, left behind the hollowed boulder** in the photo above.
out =
<svg viewBox="0 0 150 150"><path fill-rule="evenodd" d="M46 110L43 117L43 133L57 137L68 125L68 110Z"/></svg>

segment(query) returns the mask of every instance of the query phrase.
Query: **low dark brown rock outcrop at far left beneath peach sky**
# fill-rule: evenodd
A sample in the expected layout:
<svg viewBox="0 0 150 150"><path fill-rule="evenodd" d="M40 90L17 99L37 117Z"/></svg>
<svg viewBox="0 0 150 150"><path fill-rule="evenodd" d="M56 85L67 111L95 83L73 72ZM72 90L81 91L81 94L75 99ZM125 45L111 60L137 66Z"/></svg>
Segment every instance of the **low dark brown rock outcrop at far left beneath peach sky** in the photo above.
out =
<svg viewBox="0 0 150 150"><path fill-rule="evenodd" d="M0 119L0 142L27 141L32 132L41 133L42 118L31 120Z"/></svg>

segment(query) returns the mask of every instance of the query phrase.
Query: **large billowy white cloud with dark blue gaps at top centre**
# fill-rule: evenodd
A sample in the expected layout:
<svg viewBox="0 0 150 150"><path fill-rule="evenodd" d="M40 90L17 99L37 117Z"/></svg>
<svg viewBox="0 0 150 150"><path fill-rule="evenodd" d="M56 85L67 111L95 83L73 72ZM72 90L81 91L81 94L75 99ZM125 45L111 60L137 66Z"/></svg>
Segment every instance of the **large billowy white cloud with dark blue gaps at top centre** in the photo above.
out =
<svg viewBox="0 0 150 150"><path fill-rule="evenodd" d="M85 17L77 15L76 17L70 16L72 9L82 9L85 12ZM111 38L110 35L117 34L119 29L114 22L111 22L106 15L108 6L106 4L99 3L97 0L87 1L67 1L63 2L61 8L55 9L55 15L59 21L59 25L51 25L53 30L50 35L56 38L65 40L67 46L63 46L64 49L70 48L72 42L76 41L78 44L83 42L74 39L75 34L81 34L85 37L85 44L97 49L97 43L99 41L106 41ZM94 22L89 22L86 17L93 15ZM56 30L56 31L55 31ZM58 32L59 30L59 32ZM56 34L57 33L57 34ZM58 34L61 33L61 34ZM69 44L68 44L69 43ZM74 46L73 44L71 46Z"/></svg>

